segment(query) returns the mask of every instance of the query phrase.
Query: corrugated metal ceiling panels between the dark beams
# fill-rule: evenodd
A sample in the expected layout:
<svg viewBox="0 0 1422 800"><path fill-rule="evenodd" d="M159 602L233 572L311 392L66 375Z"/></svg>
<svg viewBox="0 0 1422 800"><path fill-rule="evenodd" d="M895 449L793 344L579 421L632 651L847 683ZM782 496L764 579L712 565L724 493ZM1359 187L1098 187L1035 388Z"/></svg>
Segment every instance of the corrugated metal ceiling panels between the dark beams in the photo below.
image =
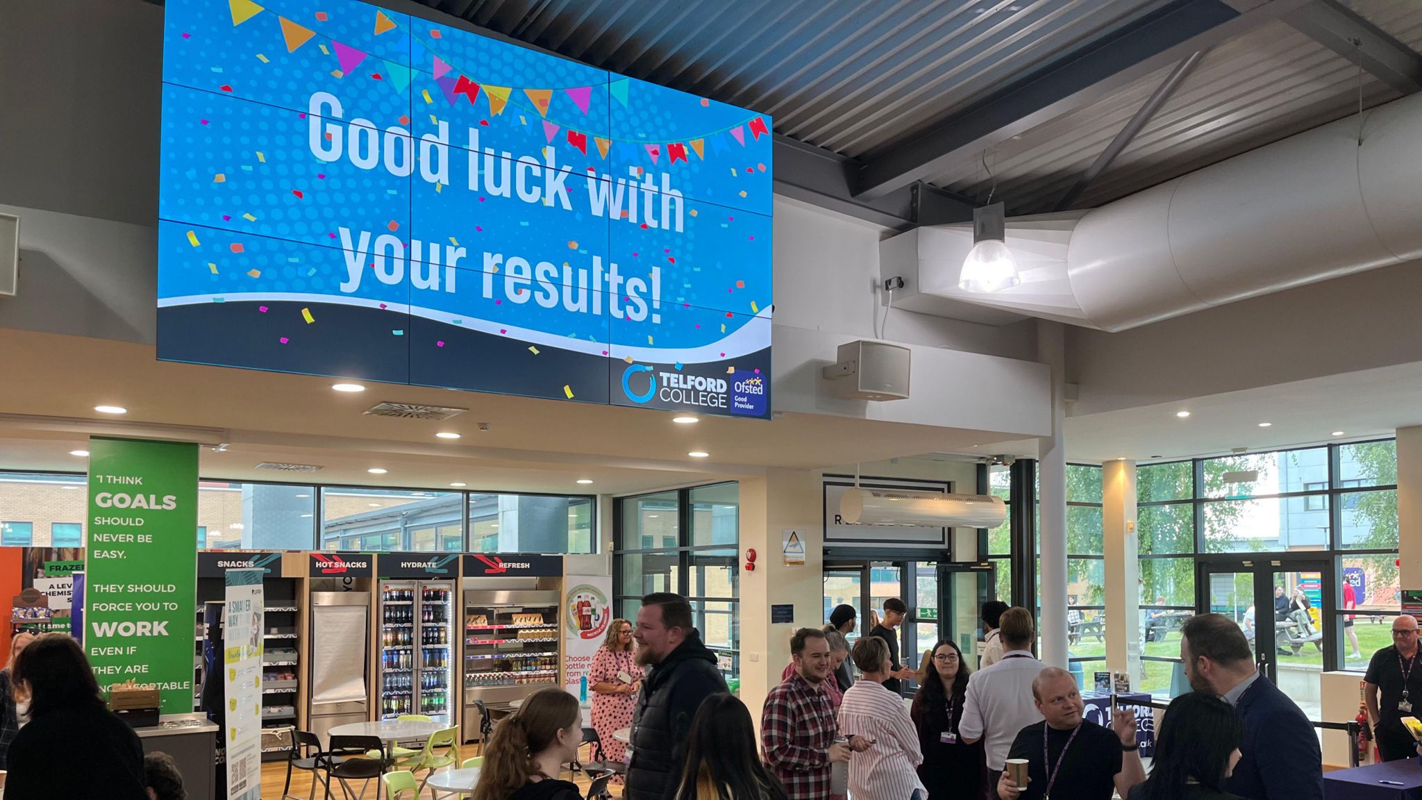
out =
<svg viewBox="0 0 1422 800"><path fill-rule="evenodd" d="M587 64L771 114L779 134L867 161L1170 0L422 1ZM1422 0L1342 1L1422 48ZM1010 214L1052 211L1169 71L926 179L981 201L991 174ZM1358 84L1348 58L1267 23L1207 51L1074 208L1355 112ZM1362 94L1368 107L1398 97L1367 74Z"/></svg>

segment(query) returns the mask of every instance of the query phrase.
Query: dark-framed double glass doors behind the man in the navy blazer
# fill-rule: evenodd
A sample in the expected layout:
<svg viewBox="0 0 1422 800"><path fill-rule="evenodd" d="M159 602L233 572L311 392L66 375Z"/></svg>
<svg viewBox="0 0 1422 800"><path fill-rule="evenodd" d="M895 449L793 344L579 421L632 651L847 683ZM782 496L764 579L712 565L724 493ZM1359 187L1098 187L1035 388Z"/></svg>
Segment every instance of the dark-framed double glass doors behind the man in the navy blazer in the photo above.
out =
<svg viewBox="0 0 1422 800"><path fill-rule="evenodd" d="M1254 665L1310 719L1320 719L1328 562L1298 558L1210 559L1196 581L1200 614L1229 616L1249 639Z"/></svg>

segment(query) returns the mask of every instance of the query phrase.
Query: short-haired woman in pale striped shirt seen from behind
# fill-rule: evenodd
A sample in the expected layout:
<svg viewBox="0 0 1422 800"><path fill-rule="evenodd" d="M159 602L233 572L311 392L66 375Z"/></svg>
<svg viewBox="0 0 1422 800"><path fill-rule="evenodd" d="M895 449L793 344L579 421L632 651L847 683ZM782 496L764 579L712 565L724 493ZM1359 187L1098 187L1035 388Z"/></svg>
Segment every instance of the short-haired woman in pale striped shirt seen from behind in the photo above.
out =
<svg viewBox="0 0 1422 800"><path fill-rule="evenodd" d="M849 757L849 794L855 800L924 800L919 780L923 763L919 732L903 698L884 689L890 678L889 646L865 636L850 653L863 676L845 692L839 706L839 735L863 736L872 746Z"/></svg>

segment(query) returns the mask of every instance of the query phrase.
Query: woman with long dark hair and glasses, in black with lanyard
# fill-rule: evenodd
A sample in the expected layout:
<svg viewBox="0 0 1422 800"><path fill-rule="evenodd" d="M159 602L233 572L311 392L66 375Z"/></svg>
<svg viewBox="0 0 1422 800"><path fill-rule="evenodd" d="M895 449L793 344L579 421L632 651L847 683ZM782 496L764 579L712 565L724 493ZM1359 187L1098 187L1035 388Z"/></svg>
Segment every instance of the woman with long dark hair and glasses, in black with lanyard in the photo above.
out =
<svg viewBox="0 0 1422 800"><path fill-rule="evenodd" d="M958 719L968 689L968 665L950 639L933 646L933 655L919 670L919 693L913 696L914 727L923 763L919 780L929 800L978 800L985 791L987 756L983 742L963 743Z"/></svg>

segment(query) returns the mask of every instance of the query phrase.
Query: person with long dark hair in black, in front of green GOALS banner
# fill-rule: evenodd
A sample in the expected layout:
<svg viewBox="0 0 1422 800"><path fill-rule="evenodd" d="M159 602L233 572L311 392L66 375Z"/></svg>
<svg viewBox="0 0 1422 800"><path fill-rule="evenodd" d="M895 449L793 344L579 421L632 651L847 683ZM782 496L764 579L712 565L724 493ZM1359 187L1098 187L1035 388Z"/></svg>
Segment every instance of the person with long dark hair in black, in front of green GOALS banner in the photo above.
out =
<svg viewBox="0 0 1422 800"><path fill-rule="evenodd" d="M144 746L104 707L78 642L65 633L37 638L16 659L13 678L30 695L30 725L10 744L6 794L148 800Z"/></svg>

